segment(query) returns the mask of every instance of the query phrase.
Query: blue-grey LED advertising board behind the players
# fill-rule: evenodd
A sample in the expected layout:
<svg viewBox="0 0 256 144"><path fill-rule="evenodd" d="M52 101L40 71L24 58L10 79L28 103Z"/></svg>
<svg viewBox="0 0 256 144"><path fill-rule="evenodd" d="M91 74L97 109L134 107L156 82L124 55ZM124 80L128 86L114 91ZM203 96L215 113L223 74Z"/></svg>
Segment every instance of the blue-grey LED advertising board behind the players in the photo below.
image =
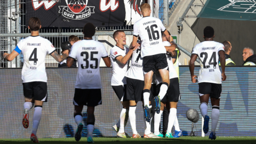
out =
<svg viewBox="0 0 256 144"><path fill-rule="evenodd" d="M117 123L122 108L111 85L112 68L100 68L102 80L102 105L95 108L95 137L115 137L112 126ZM195 68L198 75L199 67ZM256 136L255 77L256 67L227 67L227 81L222 84L220 102L220 120L216 133L218 136ZM48 77L48 102L43 105L42 119L37 132L38 138L74 137L76 124L74 122L73 95L76 81L76 68L46 68ZM23 87L21 69L0 69L0 139L29 138L32 131L34 108L30 111L29 127L22 126ZM195 108L199 113L198 84L191 83L189 68L180 67L181 100L178 104L178 120L184 135L191 131L191 122L186 118L186 111ZM92 95L93 96L93 95ZM137 131L142 135L145 130L142 103L136 110ZM83 110L86 125L86 107ZM208 114L211 117L211 102ZM200 115L201 117L201 115ZM211 120L210 120L211 130ZM130 122L125 131L132 135ZM194 131L201 136L201 119L196 123ZM210 132L209 132L210 133ZM209 134L208 133L208 134ZM86 126L83 137L87 135ZM207 135L207 134L206 134Z"/></svg>

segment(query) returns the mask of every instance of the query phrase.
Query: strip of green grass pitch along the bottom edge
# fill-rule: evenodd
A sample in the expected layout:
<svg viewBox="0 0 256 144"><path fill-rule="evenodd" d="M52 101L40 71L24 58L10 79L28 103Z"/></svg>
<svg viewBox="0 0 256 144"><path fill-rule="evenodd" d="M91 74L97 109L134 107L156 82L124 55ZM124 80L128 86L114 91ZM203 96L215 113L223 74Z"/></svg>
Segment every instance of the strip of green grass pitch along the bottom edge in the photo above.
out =
<svg viewBox="0 0 256 144"><path fill-rule="evenodd" d="M75 138L42 138L38 139L40 143L87 143L86 138L81 138L79 142L75 141ZM256 144L256 137L217 137L216 140L210 140L208 137L181 137L181 138L161 138L161 139L132 139L132 138L93 138L95 143L102 143L102 144L113 144L113 143L131 143L131 144L160 144L160 143L173 143L173 144ZM29 139L0 139L0 143L33 143Z"/></svg>

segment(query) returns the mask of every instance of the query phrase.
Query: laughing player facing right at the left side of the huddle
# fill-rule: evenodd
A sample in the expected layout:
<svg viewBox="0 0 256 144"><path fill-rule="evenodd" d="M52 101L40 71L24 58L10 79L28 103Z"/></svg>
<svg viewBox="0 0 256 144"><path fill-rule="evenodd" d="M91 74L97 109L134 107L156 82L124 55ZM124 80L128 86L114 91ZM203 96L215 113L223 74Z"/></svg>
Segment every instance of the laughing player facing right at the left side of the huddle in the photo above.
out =
<svg viewBox="0 0 256 144"><path fill-rule="evenodd" d="M111 78L111 86L115 91L119 101L123 105L123 109L120 114L119 130L118 123L113 126L113 129L117 132L117 137L126 138L124 127L128 121L129 116L129 101L126 99L126 71L128 67L129 59L132 52L138 49L139 44L136 44L133 49L126 48L126 37L123 30L117 30L113 34L113 38L116 41L116 45L110 50L110 61L113 67L113 75Z"/></svg>

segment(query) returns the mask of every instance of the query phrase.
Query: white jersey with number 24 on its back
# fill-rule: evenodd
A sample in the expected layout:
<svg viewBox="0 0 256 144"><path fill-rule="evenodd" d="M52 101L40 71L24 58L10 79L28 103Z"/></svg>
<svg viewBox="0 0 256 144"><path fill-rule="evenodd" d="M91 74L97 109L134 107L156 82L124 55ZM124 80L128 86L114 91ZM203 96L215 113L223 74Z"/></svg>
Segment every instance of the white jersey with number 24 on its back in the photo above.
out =
<svg viewBox="0 0 256 144"><path fill-rule="evenodd" d="M224 45L214 41L199 43L192 50L192 54L197 54L200 59L201 69L198 83L221 84L221 72L218 65L219 51L224 51Z"/></svg>

